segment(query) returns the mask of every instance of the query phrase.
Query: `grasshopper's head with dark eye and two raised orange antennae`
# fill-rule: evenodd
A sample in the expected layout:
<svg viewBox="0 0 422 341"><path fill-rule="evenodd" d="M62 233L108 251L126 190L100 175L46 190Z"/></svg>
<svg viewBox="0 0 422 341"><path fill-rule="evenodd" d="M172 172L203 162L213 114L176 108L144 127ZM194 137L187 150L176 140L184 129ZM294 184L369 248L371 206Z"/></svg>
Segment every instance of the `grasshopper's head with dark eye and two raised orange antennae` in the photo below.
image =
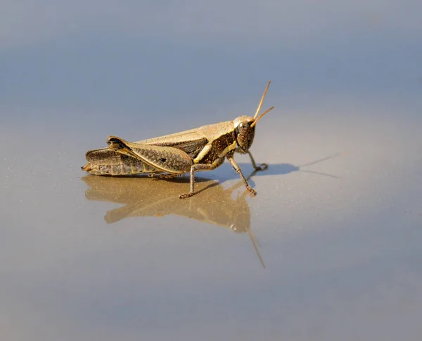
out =
<svg viewBox="0 0 422 341"><path fill-rule="evenodd" d="M257 118L258 114L260 113L262 102L264 102L265 95L267 94L267 90L271 81L268 82L267 87L264 90L264 94L262 95L260 105L258 105L257 112L255 116L238 116L234 119L234 133L236 135L236 143L237 148L236 152L245 154L248 152L250 146L252 145L253 138L255 136L255 125L257 121L259 121L264 114L274 109L274 107L269 108Z"/></svg>

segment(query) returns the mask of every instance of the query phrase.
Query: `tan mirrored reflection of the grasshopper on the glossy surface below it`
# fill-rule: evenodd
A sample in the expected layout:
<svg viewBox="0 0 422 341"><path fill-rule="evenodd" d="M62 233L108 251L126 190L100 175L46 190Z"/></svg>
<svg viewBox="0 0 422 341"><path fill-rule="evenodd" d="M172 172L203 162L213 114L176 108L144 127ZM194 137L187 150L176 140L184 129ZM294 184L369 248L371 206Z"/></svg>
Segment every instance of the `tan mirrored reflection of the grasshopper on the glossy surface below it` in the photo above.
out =
<svg viewBox="0 0 422 341"><path fill-rule="evenodd" d="M255 175L256 171L249 175ZM257 248L257 241L250 229L250 208L246 196L248 192L234 192L243 187L243 182L224 189L215 180L199 180L198 192L204 195L193 196L191 200L179 200L177 194L186 186L182 178L168 181L156 181L144 178L108 178L85 176L82 180L90 187L85 196L92 201L122 203L124 206L108 210L104 219L108 223L118 222L124 218L163 217L180 215L231 231L248 232L252 246L263 267L264 262ZM169 195L170 194L170 195Z"/></svg>

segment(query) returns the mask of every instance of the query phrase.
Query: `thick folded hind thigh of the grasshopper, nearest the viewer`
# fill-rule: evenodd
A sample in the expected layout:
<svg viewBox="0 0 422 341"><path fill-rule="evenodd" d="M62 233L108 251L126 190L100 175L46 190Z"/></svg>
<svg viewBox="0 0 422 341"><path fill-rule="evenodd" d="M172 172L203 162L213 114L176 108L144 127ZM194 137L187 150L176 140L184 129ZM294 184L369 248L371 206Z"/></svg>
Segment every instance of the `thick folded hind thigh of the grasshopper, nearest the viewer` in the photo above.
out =
<svg viewBox="0 0 422 341"><path fill-rule="evenodd" d="M187 173L193 161L183 150L175 147L143 145L110 136L107 140L110 149L131 156L162 172L171 174Z"/></svg>

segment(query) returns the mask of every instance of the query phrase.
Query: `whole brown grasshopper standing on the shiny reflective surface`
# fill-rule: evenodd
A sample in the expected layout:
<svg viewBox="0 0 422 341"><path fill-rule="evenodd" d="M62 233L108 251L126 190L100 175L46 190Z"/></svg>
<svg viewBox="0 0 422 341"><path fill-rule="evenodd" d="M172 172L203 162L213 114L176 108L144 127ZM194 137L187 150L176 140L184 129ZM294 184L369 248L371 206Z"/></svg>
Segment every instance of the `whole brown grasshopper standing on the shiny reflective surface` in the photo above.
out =
<svg viewBox="0 0 422 341"><path fill-rule="evenodd" d="M191 190L180 194L184 199L195 194L195 173L214 170L228 159L234 170L241 176L251 196L252 189L234 161L234 153L248 154L255 170L265 170L267 163L257 166L249 149L255 136L255 126L262 116L274 109L271 107L260 114L269 84L262 94L255 116L238 116L233 121L202 126L171 135L129 142L117 136L109 136L108 148L87 152L87 164L82 170L94 175L134 175L148 173L157 178L172 178L183 173L191 174Z"/></svg>

